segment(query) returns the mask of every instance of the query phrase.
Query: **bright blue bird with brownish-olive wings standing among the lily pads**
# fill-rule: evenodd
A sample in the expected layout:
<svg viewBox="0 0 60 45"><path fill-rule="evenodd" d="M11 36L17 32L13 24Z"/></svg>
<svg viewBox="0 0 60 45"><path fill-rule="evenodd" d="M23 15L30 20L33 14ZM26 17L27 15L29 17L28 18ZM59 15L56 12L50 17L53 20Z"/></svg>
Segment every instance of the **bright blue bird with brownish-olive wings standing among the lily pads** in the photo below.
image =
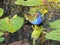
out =
<svg viewBox="0 0 60 45"><path fill-rule="evenodd" d="M42 16L40 12L37 12L35 14L25 15L26 19L34 25L38 25L42 23Z"/></svg>

